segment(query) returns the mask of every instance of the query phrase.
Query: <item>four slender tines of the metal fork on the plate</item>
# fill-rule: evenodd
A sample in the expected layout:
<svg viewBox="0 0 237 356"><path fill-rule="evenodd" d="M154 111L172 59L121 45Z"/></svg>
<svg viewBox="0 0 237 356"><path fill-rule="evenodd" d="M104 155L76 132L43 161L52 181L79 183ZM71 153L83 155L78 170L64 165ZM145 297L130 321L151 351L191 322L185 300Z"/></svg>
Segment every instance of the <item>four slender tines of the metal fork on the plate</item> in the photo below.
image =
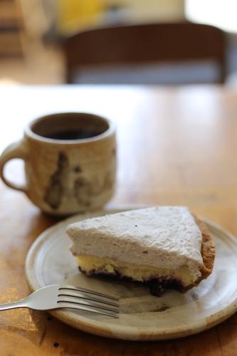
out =
<svg viewBox="0 0 237 356"><path fill-rule="evenodd" d="M103 315L119 318L119 299L86 288L59 286L57 303L64 308L93 311ZM67 304L67 306L65 306Z"/></svg>

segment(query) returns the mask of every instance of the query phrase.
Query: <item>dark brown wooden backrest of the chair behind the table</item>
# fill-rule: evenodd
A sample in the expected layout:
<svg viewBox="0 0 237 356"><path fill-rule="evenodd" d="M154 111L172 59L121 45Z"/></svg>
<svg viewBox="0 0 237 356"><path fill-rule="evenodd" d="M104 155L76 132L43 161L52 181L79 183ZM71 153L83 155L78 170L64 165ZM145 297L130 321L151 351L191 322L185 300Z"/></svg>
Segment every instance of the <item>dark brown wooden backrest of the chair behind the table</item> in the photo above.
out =
<svg viewBox="0 0 237 356"><path fill-rule="evenodd" d="M221 29L197 23L149 23L96 28L66 38L63 45L67 82L88 66L214 60L216 83L226 78L226 36Z"/></svg>

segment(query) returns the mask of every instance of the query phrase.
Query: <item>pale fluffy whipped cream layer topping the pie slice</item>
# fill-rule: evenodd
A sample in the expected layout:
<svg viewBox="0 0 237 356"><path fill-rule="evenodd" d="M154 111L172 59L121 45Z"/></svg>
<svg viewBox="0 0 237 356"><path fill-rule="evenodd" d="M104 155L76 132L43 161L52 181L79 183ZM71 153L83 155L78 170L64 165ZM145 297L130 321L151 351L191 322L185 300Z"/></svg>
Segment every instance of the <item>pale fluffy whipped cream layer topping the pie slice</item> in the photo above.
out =
<svg viewBox="0 0 237 356"><path fill-rule="evenodd" d="M154 206L107 214L70 224L75 255L113 258L157 268L188 266L201 273L201 231L188 208Z"/></svg>

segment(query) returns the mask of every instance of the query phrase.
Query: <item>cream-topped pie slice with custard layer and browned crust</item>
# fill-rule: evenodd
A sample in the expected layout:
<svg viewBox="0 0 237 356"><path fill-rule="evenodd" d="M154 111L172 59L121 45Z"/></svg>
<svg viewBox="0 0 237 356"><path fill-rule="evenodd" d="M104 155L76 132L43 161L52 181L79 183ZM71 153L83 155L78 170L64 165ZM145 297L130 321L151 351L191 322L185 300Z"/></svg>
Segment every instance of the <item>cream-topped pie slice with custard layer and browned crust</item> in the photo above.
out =
<svg viewBox="0 0 237 356"><path fill-rule="evenodd" d="M197 286L212 271L214 241L184 206L154 206L86 219L67 228L80 271L148 283L151 293Z"/></svg>

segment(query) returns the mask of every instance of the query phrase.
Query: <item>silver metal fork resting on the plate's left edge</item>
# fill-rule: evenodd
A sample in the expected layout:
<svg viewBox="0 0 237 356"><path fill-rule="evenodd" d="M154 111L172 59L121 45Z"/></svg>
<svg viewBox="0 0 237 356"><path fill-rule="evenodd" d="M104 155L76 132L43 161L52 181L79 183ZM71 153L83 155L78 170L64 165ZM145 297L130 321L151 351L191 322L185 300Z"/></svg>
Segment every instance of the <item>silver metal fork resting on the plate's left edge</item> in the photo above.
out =
<svg viewBox="0 0 237 356"><path fill-rule="evenodd" d="M22 300L0 304L0 310L13 308L31 308L35 310L69 308L119 318L118 301L118 298L95 292L94 290L67 285L53 285L40 288Z"/></svg>

